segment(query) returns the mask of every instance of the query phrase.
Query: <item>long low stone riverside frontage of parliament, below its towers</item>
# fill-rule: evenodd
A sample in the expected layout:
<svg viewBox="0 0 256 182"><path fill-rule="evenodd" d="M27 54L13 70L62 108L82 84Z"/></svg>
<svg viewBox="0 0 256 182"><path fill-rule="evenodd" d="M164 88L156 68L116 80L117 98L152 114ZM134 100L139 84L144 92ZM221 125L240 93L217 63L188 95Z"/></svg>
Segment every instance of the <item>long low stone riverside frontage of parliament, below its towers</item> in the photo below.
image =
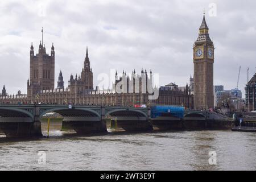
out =
<svg viewBox="0 0 256 182"><path fill-rule="evenodd" d="M193 95L187 90L159 90L156 100L148 100L148 93L116 93L113 90L90 91L87 93L71 93L71 90L54 89L43 90L42 93L28 100L27 95L0 97L0 103L7 104L81 104L81 105L111 105L111 106L134 106L134 105L183 105L193 109Z"/></svg>

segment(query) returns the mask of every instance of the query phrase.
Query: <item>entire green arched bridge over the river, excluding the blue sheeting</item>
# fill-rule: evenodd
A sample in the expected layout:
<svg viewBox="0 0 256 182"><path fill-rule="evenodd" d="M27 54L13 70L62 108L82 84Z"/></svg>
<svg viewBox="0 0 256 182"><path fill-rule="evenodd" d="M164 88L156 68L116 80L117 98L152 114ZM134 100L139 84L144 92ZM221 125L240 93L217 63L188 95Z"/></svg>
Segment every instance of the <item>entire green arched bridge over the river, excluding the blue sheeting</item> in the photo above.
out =
<svg viewBox="0 0 256 182"><path fill-rule="evenodd" d="M59 113L62 126L77 134L106 133L106 119L126 131L151 131L153 126L167 130L230 129L230 118L207 111L185 110L181 118L162 113L151 118L151 109L96 105L0 105L0 132L7 137L42 137L40 118Z"/></svg>

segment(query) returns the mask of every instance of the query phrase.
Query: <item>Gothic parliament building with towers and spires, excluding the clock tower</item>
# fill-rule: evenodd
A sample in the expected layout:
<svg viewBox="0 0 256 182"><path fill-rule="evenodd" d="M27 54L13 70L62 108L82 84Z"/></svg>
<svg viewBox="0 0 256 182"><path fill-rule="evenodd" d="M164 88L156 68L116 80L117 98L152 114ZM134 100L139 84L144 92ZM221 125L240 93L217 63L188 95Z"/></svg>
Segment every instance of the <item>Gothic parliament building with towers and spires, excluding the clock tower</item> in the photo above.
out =
<svg viewBox="0 0 256 182"><path fill-rule="evenodd" d="M64 88L64 79L60 72L57 88L54 88L55 50L52 46L51 56L40 43L39 53L34 55L34 47L30 48L30 79L27 81L27 94L1 96L0 103L8 104L79 104L79 105L183 105L193 109L193 95L189 86L182 89L174 86L153 88L152 71L143 70L137 74L135 70L131 77L123 71L122 77L115 75L112 89L98 90L93 87L93 72L90 68L88 48L84 67L79 76L71 75L68 87ZM176 86L175 86L176 85ZM155 93L158 97L152 99Z"/></svg>

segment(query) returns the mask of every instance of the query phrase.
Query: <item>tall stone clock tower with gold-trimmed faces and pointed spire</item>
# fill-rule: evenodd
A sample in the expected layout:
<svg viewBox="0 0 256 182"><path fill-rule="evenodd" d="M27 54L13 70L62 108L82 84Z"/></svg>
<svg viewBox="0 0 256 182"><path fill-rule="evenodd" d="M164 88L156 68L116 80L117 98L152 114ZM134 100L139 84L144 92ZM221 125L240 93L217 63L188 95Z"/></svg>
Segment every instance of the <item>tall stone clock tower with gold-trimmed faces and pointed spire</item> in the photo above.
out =
<svg viewBox="0 0 256 182"><path fill-rule="evenodd" d="M195 96L194 109L213 108L213 63L214 46L209 37L209 28L205 21L199 28L199 36L193 47Z"/></svg>

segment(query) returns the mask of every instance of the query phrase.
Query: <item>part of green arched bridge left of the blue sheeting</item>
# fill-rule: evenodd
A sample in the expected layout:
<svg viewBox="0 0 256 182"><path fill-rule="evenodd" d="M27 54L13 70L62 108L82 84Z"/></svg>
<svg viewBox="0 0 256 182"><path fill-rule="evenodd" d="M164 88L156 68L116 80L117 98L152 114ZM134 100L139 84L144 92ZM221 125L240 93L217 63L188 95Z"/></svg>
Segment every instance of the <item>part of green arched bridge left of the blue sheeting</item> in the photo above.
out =
<svg viewBox="0 0 256 182"><path fill-rule="evenodd" d="M151 130L147 108L94 105L0 105L0 131L6 136L42 136L40 118L59 113L63 125L79 134L105 133L106 118L123 129Z"/></svg>

